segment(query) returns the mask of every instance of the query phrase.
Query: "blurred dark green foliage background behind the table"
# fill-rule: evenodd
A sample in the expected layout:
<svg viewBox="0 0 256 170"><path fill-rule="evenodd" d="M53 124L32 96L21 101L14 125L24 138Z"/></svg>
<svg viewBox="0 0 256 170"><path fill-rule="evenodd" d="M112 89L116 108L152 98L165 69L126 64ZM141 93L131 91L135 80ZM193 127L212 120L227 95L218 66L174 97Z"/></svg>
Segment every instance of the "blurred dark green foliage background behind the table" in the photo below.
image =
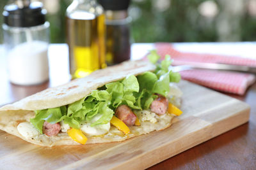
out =
<svg viewBox="0 0 256 170"><path fill-rule="evenodd" d="M65 11L72 0L42 2L51 24L51 43L64 43ZM6 3L1 0L1 13ZM133 0L129 15L136 43L256 39L256 0ZM2 31L0 42L3 43Z"/></svg>

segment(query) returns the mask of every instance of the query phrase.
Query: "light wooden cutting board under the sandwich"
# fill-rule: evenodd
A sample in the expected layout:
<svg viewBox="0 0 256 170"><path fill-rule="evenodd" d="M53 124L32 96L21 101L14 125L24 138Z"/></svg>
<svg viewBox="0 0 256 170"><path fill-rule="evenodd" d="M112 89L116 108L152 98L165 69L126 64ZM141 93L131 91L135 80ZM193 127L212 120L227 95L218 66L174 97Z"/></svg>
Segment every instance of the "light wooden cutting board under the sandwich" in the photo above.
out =
<svg viewBox="0 0 256 170"><path fill-rule="evenodd" d="M179 87L184 113L173 125L124 142L47 148L0 131L0 169L145 169L249 120L246 103L188 81Z"/></svg>

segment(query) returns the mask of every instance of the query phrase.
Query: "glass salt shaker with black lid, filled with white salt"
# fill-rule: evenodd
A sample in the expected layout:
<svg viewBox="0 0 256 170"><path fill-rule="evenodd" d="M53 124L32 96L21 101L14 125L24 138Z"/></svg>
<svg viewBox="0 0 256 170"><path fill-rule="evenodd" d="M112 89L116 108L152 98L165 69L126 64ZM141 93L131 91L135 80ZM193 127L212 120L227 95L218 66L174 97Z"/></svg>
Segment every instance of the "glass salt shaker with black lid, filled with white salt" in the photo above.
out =
<svg viewBox="0 0 256 170"><path fill-rule="evenodd" d="M4 47L12 83L36 85L49 80L49 22L40 2L16 1L4 7Z"/></svg>

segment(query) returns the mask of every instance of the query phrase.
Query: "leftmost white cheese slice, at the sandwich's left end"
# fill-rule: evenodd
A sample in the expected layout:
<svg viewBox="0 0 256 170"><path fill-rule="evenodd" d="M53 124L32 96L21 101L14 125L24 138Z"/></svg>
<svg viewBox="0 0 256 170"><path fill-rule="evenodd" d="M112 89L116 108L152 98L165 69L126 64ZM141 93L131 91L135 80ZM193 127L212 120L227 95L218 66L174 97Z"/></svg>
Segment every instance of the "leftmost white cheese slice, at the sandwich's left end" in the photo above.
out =
<svg viewBox="0 0 256 170"><path fill-rule="evenodd" d="M25 138L33 138L40 134L40 132L30 122L20 123L17 126L17 130Z"/></svg>

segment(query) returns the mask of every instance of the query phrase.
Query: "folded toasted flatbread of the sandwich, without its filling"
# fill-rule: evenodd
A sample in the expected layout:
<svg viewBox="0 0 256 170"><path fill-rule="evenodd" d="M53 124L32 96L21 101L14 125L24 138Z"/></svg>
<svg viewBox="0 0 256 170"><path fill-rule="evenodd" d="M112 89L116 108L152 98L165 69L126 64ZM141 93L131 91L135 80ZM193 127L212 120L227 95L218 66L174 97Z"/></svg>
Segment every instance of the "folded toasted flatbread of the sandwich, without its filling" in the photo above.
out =
<svg viewBox="0 0 256 170"><path fill-rule="evenodd" d="M130 74L136 76L145 71L154 71L154 69L156 69L154 64L145 61L123 62L117 66L97 70L85 78L72 80L65 85L43 90L16 103L7 104L0 108L0 129L36 145L79 145L79 143L76 143L76 141L68 136L67 132L60 132L57 136L51 137L45 134L39 134L33 138L25 138L17 131L17 125L20 122L29 122L30 118L35 117L35 110L56 108L74 103L88 96L92 90L96 90L106 83L122 80ZM159 131L171 125L172 117L171 114L156 115L157 124L150 121L141 122L140 126L130 127L131 132L127 135L118 131L116 127L111 126L107 134L92 136L88 138L87 143L123 141L124 139L147 134L151 131Z"/></svg>

